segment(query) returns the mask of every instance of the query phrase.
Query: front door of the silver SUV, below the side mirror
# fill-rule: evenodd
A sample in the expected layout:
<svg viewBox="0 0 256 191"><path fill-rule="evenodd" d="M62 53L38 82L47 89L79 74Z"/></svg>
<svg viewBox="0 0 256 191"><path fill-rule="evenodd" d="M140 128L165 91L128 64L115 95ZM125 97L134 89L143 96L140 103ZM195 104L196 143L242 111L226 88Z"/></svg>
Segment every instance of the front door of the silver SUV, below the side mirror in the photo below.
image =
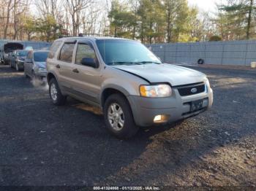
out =
<svg viewBox="0 0 256 191"><path fill-rule="evenodd" d="M98 104L100 92L99 77L102 74L101 67L99 65L95 69L91 66L83 66L81 64L83 58L93 58L95 62L99 62L93 44L81 39L76 46L75 64L72 70L72 78L74 79L72 87L80 97L82 96L87 101Z"/></svg>

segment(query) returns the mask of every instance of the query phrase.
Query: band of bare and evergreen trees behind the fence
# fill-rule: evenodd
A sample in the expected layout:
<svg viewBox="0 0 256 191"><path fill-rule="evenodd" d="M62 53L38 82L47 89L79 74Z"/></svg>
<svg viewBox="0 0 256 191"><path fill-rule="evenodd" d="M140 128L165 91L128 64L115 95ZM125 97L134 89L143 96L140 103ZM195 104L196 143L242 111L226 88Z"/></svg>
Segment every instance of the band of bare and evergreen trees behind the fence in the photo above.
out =
<svg viewBox="0 0 256 191"><path fill-rule="evenodd" d="M216 12L187 0L0 0L0 39L52 42L104 34L143 43L256 38L255 0L227 0Z"/></svg>

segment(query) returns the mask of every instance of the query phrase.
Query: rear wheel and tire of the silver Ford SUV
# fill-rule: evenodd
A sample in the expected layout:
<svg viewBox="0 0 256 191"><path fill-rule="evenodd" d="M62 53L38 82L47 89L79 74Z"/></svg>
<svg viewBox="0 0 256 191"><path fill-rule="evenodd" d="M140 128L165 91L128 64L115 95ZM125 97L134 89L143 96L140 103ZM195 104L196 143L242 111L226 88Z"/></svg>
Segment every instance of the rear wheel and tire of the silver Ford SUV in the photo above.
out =
<svg viewBox="0 0 256 191"><path fill-rule="evenodd" d="M61 90L59 89L58 82L55 78L50 79L49 95L50 99L53 101L53 104L56 106L63 106L67 99L67 96L62 95Z"/></svg>

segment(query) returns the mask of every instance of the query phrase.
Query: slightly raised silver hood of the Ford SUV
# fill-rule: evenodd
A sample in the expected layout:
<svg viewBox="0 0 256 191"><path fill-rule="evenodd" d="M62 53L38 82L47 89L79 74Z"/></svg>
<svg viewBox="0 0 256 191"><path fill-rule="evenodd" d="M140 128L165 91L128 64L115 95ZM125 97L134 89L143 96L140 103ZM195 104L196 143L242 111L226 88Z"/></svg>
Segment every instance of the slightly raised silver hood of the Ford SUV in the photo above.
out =
<svg viewBox="0 0 256 191"><path fill-rule="evenodd" d="M168 82L172 86L203 82L206 77L200 71L167 63L113 67L147 79L151 83Z"/></svg>

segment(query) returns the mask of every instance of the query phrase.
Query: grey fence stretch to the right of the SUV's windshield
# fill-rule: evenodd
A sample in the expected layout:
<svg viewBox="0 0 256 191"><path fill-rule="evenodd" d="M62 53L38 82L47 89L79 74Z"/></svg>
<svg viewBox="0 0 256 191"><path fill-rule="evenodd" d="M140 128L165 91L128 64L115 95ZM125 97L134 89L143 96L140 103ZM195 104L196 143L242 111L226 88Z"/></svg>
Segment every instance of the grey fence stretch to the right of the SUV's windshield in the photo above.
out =
<svg viewBox="0 0 256 191"><path fill-rule="evenodd" d="M250 66L256 61L256 41L147 44L165 63Z"/></svg>

